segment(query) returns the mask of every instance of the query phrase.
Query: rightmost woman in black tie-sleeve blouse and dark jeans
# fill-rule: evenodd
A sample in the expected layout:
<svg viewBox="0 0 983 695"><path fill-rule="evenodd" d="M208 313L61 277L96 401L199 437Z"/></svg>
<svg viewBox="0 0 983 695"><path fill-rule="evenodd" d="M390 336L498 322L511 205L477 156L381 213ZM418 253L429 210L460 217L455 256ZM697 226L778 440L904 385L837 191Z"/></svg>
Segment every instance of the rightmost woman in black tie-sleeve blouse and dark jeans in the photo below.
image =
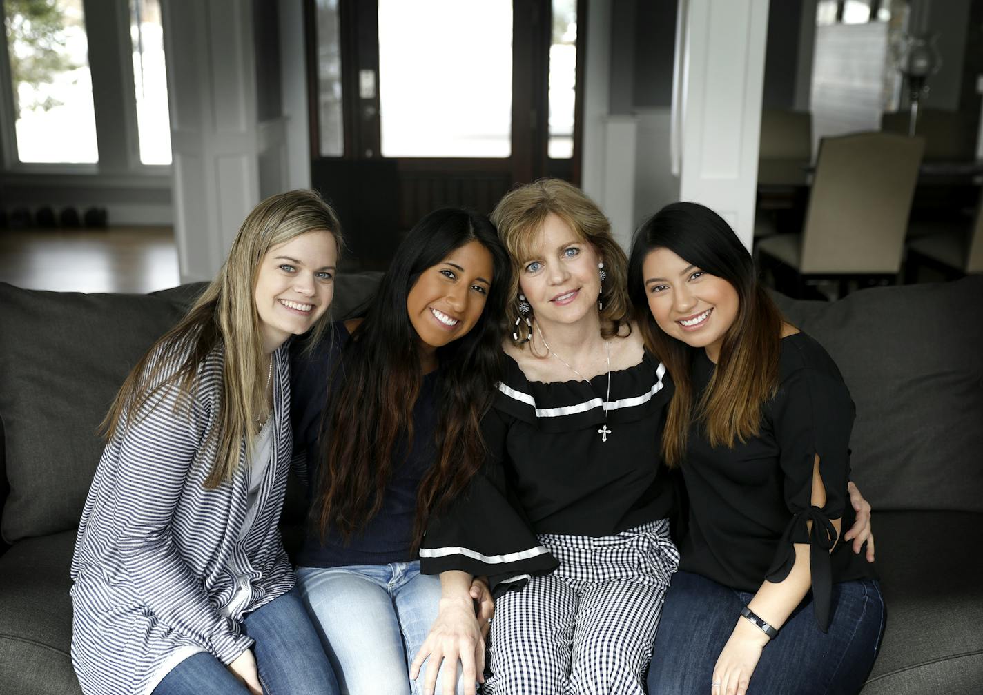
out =
<svg viewBox="0 0 983 695"><path fill-rule="evenodd" d="M667 205L639 229L628 281L675 383L662 450L688 493L649 692L859 691L884 604L839 539L854 408L836 364L781 319L703 205Z"/></svg>

